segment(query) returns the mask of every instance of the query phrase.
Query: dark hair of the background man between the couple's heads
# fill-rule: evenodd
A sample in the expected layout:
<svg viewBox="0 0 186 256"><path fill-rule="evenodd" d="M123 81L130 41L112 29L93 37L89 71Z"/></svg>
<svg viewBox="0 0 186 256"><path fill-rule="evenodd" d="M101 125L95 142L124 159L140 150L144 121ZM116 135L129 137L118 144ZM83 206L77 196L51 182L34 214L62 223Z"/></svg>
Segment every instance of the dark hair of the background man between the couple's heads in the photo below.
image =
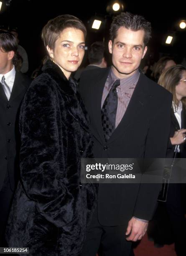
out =
<svg viewBox="0 0 186 256"><path fill-rule="evenodd" d="M104 43L94 42L88 51L88 58L90 64L101 64L104 57Z"/></svg>

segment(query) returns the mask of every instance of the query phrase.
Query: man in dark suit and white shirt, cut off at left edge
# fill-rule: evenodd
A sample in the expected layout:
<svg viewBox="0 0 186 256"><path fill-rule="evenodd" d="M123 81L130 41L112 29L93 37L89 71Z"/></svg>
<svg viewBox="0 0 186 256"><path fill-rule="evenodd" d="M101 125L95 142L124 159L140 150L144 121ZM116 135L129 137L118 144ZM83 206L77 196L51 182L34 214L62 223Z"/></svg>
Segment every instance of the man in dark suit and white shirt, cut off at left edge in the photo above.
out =
<svg viewBox="0 0 186 256"><path fill-rule="evenodd" d="M30 84L30 79L15 71L16 51L15 37L0 31L0 246L6 245L5 226L19 175L20 103Z"/></svg>

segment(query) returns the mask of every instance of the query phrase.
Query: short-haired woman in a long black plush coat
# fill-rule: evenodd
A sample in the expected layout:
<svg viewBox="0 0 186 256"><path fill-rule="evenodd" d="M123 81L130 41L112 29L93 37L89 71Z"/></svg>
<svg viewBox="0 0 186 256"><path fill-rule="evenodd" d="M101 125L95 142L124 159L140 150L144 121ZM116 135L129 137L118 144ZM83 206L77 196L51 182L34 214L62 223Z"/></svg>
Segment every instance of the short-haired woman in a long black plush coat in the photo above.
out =
<svg viewBox="0 0 186 256"><path fill-rule="evenodd" d="M74 16L48 21L42 39L50 59L21 107L21 180L6 238L33 256L79 256L94 207L94 186L80 183L81 158L92 157L89 123L70 78L82 62L85 35Z"/></svg>

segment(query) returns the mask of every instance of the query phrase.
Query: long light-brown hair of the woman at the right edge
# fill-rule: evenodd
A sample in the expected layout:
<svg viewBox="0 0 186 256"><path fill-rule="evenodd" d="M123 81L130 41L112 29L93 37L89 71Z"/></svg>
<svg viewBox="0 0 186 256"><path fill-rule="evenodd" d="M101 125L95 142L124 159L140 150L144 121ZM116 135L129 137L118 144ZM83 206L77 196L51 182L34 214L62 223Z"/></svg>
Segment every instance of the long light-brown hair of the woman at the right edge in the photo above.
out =
<svg viewBox="0 0 186 256"><path fill-rule="evenodd" d="M186 68L182 65L176 65L166 69L160 76L158 84L166 88L173 95L173 104L176 108L178 106L178 100L176 98L176 85L179 83L182 77L182 72ZM186 97L181 99L183 106L186 108Z"/></svg>

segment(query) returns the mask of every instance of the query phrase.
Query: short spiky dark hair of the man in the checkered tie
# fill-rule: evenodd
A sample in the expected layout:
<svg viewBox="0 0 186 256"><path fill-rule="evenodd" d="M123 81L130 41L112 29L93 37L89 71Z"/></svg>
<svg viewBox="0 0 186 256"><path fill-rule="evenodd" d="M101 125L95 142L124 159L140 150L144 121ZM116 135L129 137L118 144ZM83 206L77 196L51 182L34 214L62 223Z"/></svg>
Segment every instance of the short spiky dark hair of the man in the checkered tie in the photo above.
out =
<svg viewBox="0 0 186 256"><path fill-rule="evenodd" d="M150 22L145 20L143 16L134 15L132 13L120 13L117 15L112 21L110 27L110 39L112 43L114 39L117 37L117 31L120 27L125 27L127 29L131 29L132 31L144 30L144 44L145 46L148 44L149 39L151 38L151 25Z"/></svg>

